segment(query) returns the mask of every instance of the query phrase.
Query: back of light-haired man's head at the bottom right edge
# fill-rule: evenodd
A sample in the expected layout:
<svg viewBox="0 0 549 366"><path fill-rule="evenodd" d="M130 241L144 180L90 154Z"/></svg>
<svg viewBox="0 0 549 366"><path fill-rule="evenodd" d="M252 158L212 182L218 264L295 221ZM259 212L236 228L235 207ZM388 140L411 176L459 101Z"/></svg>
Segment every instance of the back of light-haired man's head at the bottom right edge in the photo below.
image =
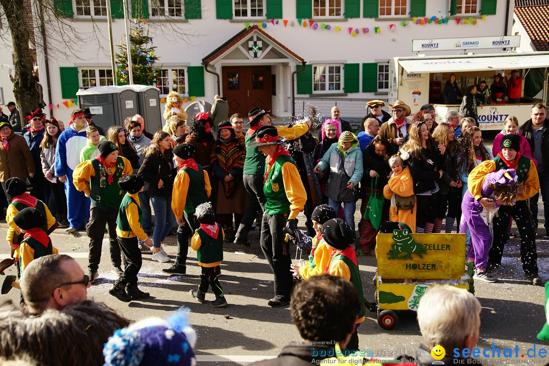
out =
<svg viewBox="0 0 549 366"><path fill-rule="evenodd" d="M417 309L417 321L423 335L423 344L416 352L417 363L466 363L463 354L467 351L462 351L468 348L470 354L477 344L480 310L477 298L465 289L437 285L425 292ZM462 361L458 361L460 359Z"/></svg>

